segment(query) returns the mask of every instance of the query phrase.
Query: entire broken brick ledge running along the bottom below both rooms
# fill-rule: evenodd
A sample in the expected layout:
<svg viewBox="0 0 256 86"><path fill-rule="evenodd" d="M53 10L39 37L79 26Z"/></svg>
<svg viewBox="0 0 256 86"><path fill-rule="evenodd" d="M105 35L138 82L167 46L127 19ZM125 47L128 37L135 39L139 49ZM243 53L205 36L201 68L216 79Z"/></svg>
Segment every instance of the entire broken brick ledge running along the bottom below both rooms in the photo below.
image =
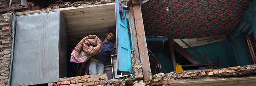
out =
<svg viewBox="0 0 256 86"><path fill-rule="evenodd" d="M134 66L135 73L140 71L141 66ZM138 78L134 75L128 78L107 80L106 74L102 75L85 75L72 78L60 78L58 86L168 86L175 80L198 79L206 77L239 77L245 75L256 75L256 65L235 66L217 70L198 70L190 72L171 72L166 74L156 74L150 81L144 82L143 76ZM168 82L165 82L168 81ZM159 83L160 82L160 83ZM194 81L196 82L196 81ZM162 84L161 84L162 83Z"/></svg>

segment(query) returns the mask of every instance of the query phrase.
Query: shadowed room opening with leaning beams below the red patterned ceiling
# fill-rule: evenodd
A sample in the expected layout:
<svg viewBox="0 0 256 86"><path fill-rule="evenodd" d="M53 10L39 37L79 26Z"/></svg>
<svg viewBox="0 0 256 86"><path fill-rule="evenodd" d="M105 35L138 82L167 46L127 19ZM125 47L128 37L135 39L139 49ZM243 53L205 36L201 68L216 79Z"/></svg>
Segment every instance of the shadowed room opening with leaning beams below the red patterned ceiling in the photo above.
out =
<svg viewBox="0 0 256 86"><path fill-rule="evenodd" d="M153 38L155 38L155 41ZM147 47L149 48L149 61L150 61L150 68L152 71L152 75L157 73L170 73L174 72L175 68L172 65L172 56L169 48L169 43L167 42L168 39L166 37L162 37L162 41L159 40L161 37L146 37L147 39ZM231 37L232 38L232 37ZM246 51L246 41L244 40L245 37L241 37L234 40L234 43L228 41L225 36L216 36L216 37L206 37L206 38L194 38L194 39L183 39L192 46L199 54L205 57L207 60L212 62L210 64L205 59L202 58L199 54L196 53L193 49L189 48L179 39L174 39L174 55L175 55L175 62L178 65L182 66L183 71L190 71L190 70L205 70L205 69L219 69L219 68L228 68L232 66L244 66L244 65L251 65L252 63L248 60L247 53L249 52L242 52L246 58L236 57L236 48L239 47ZM208 40L208 41L206 41ZM211 41L209 41L211 40ZM244 41L241 41L244 40ZM234 44L234 45L232 45ZM179 48L178 48L179 47ZM232 49L232 51L230 50ZM187 53L185 53L187 52ZM185 57L187 56L187 58ZM194 59L192 58L194 57ZM240 59L240 60L236 60ZM194 63L193 63L194 62ZM200 62L196 63L195 62ZM242 63L242 64L240 64ZM193 65L194 64L194 65ZM159 66L160 65L160 66ZM216 67L215 67L216 66ZM199 68L200 67L200 68Z"/></svg>

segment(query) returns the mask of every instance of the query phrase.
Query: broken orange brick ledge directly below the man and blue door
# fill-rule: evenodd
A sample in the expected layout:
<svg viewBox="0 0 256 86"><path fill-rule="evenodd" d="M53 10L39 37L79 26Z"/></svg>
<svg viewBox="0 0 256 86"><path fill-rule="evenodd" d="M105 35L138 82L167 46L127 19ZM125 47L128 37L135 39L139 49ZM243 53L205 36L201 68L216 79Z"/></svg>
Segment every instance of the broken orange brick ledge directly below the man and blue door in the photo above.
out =
<svg viewBox="0 0 256 86"><path fill-rule="evenodd" d="M143 80L135 80L133 77L108 80L107 74L84 75L71 78L60 78L58 86L146 86Z"/></svg>

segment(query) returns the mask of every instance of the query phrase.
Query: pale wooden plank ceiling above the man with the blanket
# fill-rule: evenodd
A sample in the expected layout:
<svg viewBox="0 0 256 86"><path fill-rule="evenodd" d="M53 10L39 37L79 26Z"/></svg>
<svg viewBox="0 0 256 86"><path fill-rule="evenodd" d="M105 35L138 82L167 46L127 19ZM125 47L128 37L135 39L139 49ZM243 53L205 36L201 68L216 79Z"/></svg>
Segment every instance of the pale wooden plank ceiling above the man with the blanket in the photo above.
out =
<svg viewBox="0 0 256 86"><path fill-rule="evenodd" d="M106 37L108 28L115 27L115 3L71 7L61 10L67 21L68 47L74 48L87 35Z"/></svg>

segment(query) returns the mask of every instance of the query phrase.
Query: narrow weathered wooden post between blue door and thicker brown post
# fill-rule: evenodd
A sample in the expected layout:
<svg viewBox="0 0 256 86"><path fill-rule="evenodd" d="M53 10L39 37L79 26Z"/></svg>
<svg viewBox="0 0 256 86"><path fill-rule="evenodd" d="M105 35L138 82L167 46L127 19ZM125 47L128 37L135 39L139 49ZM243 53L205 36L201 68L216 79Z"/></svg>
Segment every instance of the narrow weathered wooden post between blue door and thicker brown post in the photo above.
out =
<svg viewBox="0 0 256 86"><path fill-rule="evenodd" d="M129 10L129 18L130 18L130 23L131 23L131 31L132 31L132 41L133 41L133 46L134 46L134 52L133 57L132 57L132 64L135 62L140 62L140 56L139 56L139 51L138 51L138 41L137 41L137 31L134 25L134 13L133 13L133 8L132 6L130 7Z"/></svg>

